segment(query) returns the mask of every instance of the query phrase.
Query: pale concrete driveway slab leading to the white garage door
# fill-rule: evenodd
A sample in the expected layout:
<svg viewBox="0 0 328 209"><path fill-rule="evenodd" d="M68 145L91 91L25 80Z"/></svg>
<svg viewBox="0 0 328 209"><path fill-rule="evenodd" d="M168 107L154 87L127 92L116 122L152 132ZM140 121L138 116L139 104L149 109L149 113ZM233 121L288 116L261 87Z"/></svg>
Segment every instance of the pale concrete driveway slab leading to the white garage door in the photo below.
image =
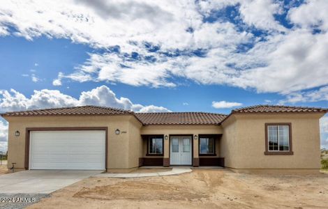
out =
<svg viewBox="0 0 328 209"><path fill-rule="evenodd" d="M0 193L50 194L100 172L103 171L31 170L8 173L0 176Z"/></svg>

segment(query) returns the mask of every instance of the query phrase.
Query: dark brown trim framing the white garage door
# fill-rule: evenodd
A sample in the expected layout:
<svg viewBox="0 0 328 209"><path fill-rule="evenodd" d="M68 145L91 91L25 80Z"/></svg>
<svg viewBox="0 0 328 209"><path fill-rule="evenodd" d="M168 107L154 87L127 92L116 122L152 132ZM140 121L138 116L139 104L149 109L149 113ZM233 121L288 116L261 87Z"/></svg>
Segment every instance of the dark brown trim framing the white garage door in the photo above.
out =
<svg viewBox="0 0 328 209"><path fill-rule="evenodd" d="M31 131L66 131L66 130L104 130L105 131L105 169L108 158L108 127L27 127L25 131L25 169L29 169L29 145Z"/></svg>

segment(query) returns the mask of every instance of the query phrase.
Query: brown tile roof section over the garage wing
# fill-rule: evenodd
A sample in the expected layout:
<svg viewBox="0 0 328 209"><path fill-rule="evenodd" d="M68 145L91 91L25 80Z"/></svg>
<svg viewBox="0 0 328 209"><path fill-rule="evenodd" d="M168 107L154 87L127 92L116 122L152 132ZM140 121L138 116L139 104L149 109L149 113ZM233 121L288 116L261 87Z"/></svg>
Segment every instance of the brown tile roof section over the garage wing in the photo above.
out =
<svg viewBox="0 0 328 209"><path fill-rule="evenodd" d="M27 111L11 111L1 116L84 116L84 115L133 115L133 111L116 109L112 107L79 106L61 107L52 109L34 109Z"/></svg>

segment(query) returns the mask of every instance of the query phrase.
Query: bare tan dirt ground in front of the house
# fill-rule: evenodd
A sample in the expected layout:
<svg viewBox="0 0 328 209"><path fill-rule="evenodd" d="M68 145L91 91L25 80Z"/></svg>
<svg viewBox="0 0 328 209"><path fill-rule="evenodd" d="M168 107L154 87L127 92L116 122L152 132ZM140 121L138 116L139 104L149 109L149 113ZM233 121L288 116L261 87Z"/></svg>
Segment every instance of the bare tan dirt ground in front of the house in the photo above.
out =
<svg viewBox="0 0 328 209"><path fill-rule="evenodd" d="M327 208L328 174L194 170L179 176L88 178L29 208Z"/></svg>

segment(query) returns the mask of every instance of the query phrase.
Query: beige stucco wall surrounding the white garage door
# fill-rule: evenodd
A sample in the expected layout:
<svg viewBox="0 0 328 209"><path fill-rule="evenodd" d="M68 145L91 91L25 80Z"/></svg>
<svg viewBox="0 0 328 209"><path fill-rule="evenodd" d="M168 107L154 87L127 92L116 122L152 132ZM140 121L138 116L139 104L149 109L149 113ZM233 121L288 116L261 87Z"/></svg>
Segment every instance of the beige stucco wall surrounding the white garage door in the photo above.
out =
<svg viewBox="0 0 328 209"><path fill-rule="evenodd" d="M108 127L107 169L128 169L137 167L141 151L133 144L141 146L140 126L134 116L35 116L7 117L8 167L24 168L25 130L27 127ZM115 130L121 134L115 134ZM15 131L20 137L15 137ZM126 133L124 133L126 132Z"/></svg>

